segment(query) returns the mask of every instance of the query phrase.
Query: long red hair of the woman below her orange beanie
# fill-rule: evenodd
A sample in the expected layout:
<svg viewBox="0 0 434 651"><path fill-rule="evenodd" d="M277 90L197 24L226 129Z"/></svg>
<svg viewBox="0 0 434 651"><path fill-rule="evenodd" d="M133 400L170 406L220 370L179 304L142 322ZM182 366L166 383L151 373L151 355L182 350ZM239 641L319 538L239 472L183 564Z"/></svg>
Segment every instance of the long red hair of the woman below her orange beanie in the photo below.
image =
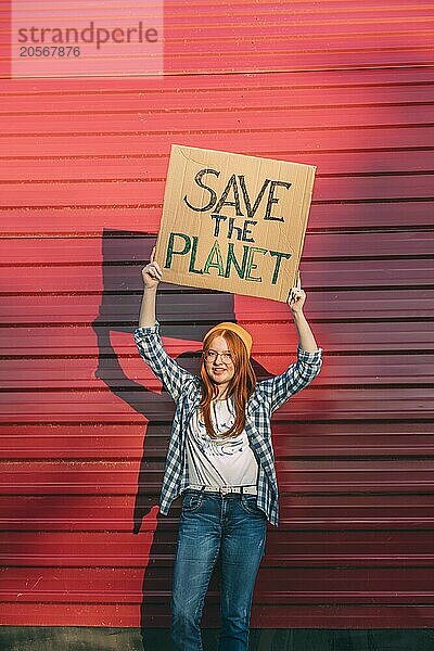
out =
<svg viewBox="0 0 434 651"><path fill-rule="evenodd" d="M231 354L234 373L227 388L227 396L232 396L235 407L235 421L233 425L226 432L226 436L238 436L245 427L245 407L247 400L255 391L256 375L253 370L247 349L243 341L235 332L225 330L225 328L214 330L209 335L205 336L203 343L203 353L206 353L212 347L213 341L217 336L224 336L228 344L228 349ZM199 405L203 419L205 421L206 431L212 438L217 438L217 434L213 427L210 417L210 403L218 395L217 385L214 384L208 376L205 368L205 359L202 357L201 363L202 378L202 400Z"/></svg>

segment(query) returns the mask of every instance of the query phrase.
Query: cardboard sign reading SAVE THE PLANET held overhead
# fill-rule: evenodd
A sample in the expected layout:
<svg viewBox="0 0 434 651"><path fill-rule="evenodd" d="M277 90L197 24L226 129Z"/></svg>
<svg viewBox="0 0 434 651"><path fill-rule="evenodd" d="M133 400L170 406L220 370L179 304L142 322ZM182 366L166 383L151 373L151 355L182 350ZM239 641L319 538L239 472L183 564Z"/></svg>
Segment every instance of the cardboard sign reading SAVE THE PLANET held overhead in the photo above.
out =
<svg viewBox="0 0 434 651"><path fill-rule="evenodd" d="M155 252L163 281L286 302L315 170L171 145Z"/></svg>

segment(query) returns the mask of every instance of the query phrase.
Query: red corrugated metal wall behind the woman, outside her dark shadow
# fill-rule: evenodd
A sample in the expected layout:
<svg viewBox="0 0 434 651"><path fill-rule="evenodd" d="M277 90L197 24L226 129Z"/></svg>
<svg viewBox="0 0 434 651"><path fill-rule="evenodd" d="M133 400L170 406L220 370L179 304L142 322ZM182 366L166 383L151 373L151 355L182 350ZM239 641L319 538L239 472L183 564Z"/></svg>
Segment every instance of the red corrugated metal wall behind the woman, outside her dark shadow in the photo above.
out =
<svg viewBox="0 0 434 651"><path fill-rule="evenodd" d="M3 624L168 625L173 406L132 330L176 142L318 166L301 269L324 365L276 416L253 625L434 625L432 9L167 0L164 77L1 80ZM283 304L158 305L175 356L235 318L257 365L294 358Z"/></svg>

